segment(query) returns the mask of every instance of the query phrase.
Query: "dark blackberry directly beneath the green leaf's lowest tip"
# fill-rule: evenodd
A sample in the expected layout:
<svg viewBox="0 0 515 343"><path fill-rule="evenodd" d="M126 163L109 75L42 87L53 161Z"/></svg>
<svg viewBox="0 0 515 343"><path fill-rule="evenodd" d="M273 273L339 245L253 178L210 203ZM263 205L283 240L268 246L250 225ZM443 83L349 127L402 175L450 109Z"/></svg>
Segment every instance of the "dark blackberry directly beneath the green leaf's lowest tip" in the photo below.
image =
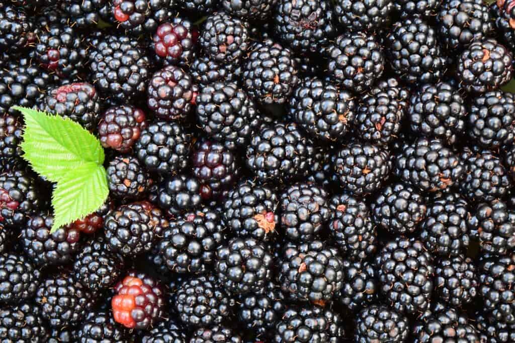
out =
<svg viewBox="0 0 515 343"><path fill-rule="evenodd" d="M32 215L21 228L20 240L25 254L38 266L71 262L82 246L80 232L60 227L50 233L52 215Z"/></svg>

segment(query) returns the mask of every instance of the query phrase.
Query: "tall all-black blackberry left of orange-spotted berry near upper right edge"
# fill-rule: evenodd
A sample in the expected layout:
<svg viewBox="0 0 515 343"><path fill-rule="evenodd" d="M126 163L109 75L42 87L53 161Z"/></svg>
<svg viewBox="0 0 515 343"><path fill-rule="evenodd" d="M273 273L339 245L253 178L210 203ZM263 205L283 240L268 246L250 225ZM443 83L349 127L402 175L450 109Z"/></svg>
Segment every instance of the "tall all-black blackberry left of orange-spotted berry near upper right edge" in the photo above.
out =
<svg viewBox="0 0 515 343"><path fill-rule="evenodd" d="M386 42L392 70L407 83L433 83L447 70L435 30L418 17L393 24Z"/></svg>

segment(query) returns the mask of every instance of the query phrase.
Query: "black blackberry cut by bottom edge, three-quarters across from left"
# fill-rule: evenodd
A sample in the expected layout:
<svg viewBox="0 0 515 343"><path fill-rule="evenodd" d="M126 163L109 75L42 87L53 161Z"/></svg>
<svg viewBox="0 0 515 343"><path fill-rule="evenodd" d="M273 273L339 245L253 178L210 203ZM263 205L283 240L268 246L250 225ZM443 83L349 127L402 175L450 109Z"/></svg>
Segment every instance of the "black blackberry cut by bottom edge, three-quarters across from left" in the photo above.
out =
<svg viewBox="0 0 515 343"><path fill-rule="evenodd" d="M370 305L357 315L356 343L407 341L408 319L385 305Z"/></svg>

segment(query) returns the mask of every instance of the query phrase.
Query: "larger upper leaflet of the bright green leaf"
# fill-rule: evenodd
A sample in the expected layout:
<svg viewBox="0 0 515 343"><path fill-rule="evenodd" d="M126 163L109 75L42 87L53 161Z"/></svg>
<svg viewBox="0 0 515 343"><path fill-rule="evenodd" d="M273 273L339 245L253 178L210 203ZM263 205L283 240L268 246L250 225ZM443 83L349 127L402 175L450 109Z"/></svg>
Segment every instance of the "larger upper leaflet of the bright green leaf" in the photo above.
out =
<svg viewBox="0 0 515 343"><path fill-rule="evenodd" d="M104 163L98 139L69 118L14 106L25 118L21 145L32 168L52 182L85 164Z"/></svg>

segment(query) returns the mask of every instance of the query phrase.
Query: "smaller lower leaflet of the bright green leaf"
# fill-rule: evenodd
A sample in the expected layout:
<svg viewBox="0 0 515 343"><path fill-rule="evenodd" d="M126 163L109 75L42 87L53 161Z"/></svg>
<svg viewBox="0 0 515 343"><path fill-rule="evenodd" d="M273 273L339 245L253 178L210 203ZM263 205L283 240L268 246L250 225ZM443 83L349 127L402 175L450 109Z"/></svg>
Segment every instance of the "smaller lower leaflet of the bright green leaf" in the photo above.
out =
<svg viewBox="0 0 515 343"><path fill-rule="evenodd" d="M50 232L92 213L108 195L106 170L95 163L85 164L61 178L52 194L54 225Z"/></svg>

